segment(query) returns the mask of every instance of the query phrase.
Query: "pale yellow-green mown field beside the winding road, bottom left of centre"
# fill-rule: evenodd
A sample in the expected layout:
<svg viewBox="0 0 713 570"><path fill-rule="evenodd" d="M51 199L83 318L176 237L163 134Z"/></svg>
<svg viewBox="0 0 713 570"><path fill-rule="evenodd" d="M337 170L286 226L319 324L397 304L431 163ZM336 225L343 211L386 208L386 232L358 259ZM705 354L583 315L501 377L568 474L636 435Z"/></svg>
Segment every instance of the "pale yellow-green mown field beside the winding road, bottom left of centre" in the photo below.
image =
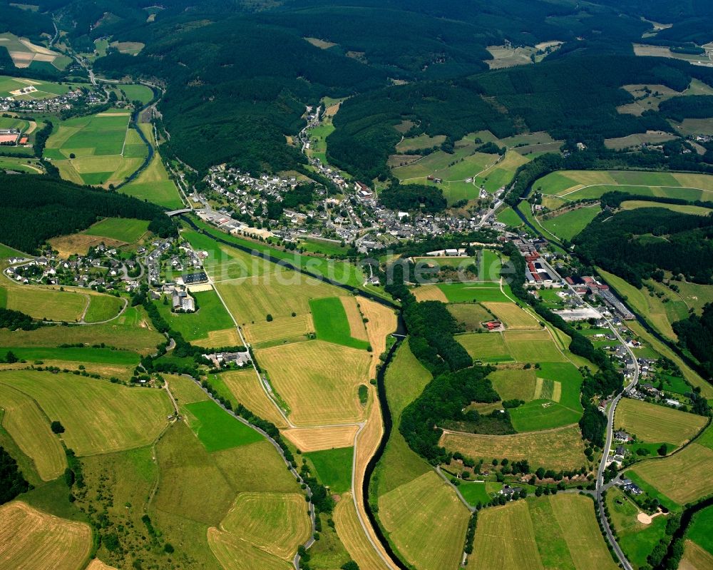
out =
<svg viewBox="0 0 713 570"><path fill-rule="evenodd" d="M240 493L221 529L256 548L292 560L312 525L299 493Z"/></svg>

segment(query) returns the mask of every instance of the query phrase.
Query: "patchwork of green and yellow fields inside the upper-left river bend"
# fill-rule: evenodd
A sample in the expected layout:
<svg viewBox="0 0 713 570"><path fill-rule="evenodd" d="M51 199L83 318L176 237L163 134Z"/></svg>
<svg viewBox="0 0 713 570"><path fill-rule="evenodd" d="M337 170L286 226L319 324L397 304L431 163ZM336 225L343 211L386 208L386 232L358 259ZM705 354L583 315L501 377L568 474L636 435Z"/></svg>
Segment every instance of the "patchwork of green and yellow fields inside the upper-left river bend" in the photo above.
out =
<svg viewBox="0 0 713 570"><path fill-rule="evenodd" d="M44 156L66 180L105 188L118 185L148 153L129 120L127 109L68 118L47 139Z"/></svg>

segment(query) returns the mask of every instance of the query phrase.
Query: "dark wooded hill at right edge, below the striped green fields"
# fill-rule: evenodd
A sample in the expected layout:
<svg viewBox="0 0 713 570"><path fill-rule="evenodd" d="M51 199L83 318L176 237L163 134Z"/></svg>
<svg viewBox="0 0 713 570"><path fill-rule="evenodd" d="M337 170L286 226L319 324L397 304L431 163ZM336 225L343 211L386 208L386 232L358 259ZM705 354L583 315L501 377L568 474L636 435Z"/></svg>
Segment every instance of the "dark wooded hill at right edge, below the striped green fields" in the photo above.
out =
<svg viewBox="0 0 713 570"><path fill-rule="evenodd" d="M713 215L665 208L602 212L575 236L584 263L615 273L636 287L656 270L713 283Z"/></svg>

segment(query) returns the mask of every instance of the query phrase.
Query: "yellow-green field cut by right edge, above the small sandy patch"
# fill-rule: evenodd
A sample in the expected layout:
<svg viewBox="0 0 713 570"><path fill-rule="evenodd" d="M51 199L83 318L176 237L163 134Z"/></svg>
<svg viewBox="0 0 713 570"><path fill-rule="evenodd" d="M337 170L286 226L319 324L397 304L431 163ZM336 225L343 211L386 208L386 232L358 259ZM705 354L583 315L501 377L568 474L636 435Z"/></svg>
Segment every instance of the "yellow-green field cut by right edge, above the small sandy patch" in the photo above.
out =
<svg viewBox="0 0 713 570"><path fill-rule="evenodd" d="M678 504L686 504L713 493L713 451L692 443L663 459L652 459L634 467L645 482Z"/></svg>

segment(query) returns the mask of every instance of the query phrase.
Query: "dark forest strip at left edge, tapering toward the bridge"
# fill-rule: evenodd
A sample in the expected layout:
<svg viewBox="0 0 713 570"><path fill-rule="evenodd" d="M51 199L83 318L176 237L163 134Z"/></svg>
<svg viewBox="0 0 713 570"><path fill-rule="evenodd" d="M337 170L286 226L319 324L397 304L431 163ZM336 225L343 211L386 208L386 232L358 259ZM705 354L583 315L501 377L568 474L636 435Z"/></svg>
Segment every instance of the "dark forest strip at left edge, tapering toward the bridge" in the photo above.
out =
<svg viewBox="0 0 713 570"><path fill-rule="evenodd" d="M0 173L0 200L0 242L27 253L49 238L85 230L101 218L151 220L158 232L175 232L157 205L43 175Z"/></svg>

